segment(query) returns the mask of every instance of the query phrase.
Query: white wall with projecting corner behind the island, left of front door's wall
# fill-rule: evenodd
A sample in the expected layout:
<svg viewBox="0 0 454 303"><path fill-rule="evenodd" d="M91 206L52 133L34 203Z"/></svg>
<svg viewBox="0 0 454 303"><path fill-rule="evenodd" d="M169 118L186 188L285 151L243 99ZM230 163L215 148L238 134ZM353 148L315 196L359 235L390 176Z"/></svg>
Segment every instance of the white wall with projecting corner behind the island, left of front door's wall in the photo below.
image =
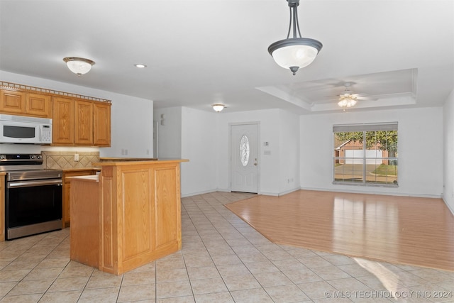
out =
<svg viewBox="0 0 454 303"><path fill-rule="evenodd" d="M180 164L182 197L216 190L216 114L187 107L155 109L158 158L189 160Z"/></svg>

